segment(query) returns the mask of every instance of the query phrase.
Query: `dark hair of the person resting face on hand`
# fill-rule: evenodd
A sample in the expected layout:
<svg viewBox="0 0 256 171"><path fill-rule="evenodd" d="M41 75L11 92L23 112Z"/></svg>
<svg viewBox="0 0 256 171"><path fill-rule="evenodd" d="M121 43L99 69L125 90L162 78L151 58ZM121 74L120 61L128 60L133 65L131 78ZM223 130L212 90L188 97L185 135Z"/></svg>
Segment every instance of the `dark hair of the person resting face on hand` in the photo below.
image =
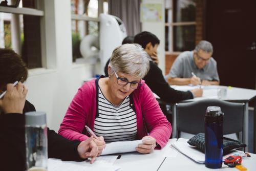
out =
<svg viewBox="0 0 256 171"><path fill-rule="evenodd" d="M157 38L157 36L148 31L143 31L134 37L134 43L141 45L142 48L144 48L144 49L146 48L146 45L149 42L151 42L153 47L156 44L158 44L158 45L160 44L160 40Z"/></svg>

